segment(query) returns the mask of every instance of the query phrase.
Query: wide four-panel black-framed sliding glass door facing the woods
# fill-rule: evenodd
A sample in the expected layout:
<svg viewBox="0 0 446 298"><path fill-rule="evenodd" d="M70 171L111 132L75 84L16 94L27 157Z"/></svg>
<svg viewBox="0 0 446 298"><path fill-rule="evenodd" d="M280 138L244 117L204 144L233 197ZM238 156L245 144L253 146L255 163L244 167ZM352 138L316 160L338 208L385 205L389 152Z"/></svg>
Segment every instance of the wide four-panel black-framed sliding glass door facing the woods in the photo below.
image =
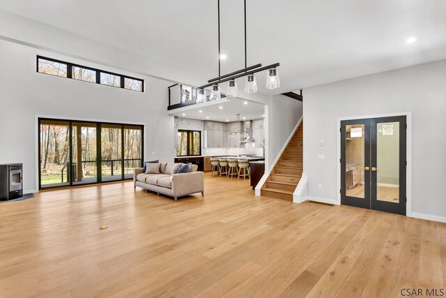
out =
<svg viewBox="0 0 446 298"><path fill-rule="evenodd" d="M132 179L143 135L142 126L39 119L39 187Z"/></svg>

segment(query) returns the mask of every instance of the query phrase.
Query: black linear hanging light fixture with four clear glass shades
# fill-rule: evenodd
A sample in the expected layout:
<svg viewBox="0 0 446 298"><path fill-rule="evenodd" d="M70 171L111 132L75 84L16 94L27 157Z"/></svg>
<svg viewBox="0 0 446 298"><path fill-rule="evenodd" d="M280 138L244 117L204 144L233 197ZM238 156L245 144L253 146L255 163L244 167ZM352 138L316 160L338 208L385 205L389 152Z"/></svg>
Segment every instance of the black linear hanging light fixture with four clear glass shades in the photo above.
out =
<svg viewBox="0 0 446 298"><path fill-rule="evenodd" d="M246 24L246 0L244 1L244 12L245 12L245 68L234 71L233 73L228 73L226 75L221 75L221 52L220 52L220 0L217 0L217 11L218 11L218 77L208 80L208 84L204 84L199 87L199 89L204 89L207 87L213 88L209 100L219 100L220 87L219 84L223 82L229 82L228 91L226 96L228 98L233 98L238 96L238 88L236 79L239 77L247 77L245 84L245 92L252 94L257 92L257 82L254 73L260 73L263 70L268 70L268 75L266 79L266 87L268 89L276 89L280 87L279 73L277 73L277 67L280 66L279 63L270 64L268 66L263 66L262 64L256 64L254 66L247 66L247 24ZM219 96L217 96L219 94ZM218 99L217 99L218 98Z"/></svg>

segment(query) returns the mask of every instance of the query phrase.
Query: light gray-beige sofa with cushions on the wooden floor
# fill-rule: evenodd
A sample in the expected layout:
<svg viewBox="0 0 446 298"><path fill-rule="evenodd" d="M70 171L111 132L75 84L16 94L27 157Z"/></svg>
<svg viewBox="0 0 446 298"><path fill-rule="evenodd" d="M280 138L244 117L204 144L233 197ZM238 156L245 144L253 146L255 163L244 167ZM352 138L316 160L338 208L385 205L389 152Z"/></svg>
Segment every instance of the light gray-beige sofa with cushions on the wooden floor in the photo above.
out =
<svg viewBox="0 0 446 298"><path fill-rule="evenodd" d="M197 172L197 165L192 165L192 170L183 174L168 173L166 170L172 168L172 165L173 163L161 163L159 174L146 174L142 167L135 168L134 188L139 186L146 191L154 191L157 195L170 195L175 200L192 193L204 195L204 175L203 172Z"/></svg>

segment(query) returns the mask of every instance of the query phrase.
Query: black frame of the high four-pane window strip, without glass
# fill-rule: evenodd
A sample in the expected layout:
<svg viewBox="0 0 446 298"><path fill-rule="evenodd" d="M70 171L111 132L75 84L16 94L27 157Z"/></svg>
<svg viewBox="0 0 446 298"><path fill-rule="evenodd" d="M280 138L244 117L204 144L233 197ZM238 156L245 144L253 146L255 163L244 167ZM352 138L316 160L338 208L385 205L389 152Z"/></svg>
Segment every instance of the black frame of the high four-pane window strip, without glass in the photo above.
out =
<svg viewBox="0 0 446 298"><path fill-rule="evenodd" d="M56 62L56 63L59 63L59 64L66 64L66 66L67 66L67 76L63 77L63 78L76 80L78 82L89 82L89 81L84 81L84 80L77 80L77 79L72 77L72 68L74 66L74 67L89 69L89 70L92 70L92 71L96 72L96 82L89 82L89 83L99 84L99 85L107 86L107 87L114 87L114 88L119 88L119 89L125 89L125 90L130 90L130 91L135 91L135 92L144 92L144 89L145 89L144 88L145 87L144 80L143 79L138 79L137 77L131 77L130 75L121 75L119 73L113 73L112 71L108 71L108 70L100 70L98 68L93 68L93 67L89 67L89 66L83 66L83 65L80 65L80 64L74 64L74 63L71 63L71 62L62 61L62 60L59 60L59 59L53 59L53 58L40 56L40 55L36 56L36 72L37 73L41 73L39 71L39 59L52 61L52 62ZM100 83L100 74L101 73L104 73L104 74L107 74L107 75L116 75L116 76L120 77L120 79L121 79L120 80L120 86L117 87L117 86L112 86L112 85L107 85L107 84L101 84ZM43 73L43 74L44 75L52 75L50 73ZM54 77L61 77L59 75L52 75L52 76L54 76ZM130 80L140 81L141 82L141 91L125 88L125 78L128 78Z"/></svg>

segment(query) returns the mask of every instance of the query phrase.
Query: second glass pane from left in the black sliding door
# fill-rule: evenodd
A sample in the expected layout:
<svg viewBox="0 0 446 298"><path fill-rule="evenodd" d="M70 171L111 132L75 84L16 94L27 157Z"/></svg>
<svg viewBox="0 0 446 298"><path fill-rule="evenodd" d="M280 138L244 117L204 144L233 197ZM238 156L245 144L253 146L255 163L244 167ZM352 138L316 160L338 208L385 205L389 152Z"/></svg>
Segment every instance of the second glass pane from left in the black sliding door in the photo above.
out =
<svg viewBox="0 0 446 298"><path fill-rule="evenodd" d="M72 184L98 181L96 124L72 122Z"/></svg>

